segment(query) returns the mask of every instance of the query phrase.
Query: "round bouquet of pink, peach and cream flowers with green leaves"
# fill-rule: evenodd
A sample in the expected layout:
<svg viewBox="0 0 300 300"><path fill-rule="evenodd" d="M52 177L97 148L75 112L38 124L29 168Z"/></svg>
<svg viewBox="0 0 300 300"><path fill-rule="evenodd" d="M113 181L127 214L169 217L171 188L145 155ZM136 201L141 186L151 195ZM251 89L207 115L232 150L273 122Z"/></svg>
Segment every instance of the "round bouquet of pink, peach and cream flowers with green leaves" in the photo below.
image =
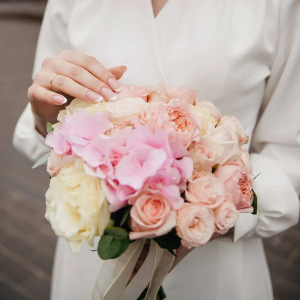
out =
<svg viewBox="0 0 300 300"><path fill-rule="evenodd" d="M76 98L47 123L45 217L73 252L99 236L102 259L144 238L175 254L256 213L248 137L235 117L187 87L122 85L117 97Z"/></svg>

